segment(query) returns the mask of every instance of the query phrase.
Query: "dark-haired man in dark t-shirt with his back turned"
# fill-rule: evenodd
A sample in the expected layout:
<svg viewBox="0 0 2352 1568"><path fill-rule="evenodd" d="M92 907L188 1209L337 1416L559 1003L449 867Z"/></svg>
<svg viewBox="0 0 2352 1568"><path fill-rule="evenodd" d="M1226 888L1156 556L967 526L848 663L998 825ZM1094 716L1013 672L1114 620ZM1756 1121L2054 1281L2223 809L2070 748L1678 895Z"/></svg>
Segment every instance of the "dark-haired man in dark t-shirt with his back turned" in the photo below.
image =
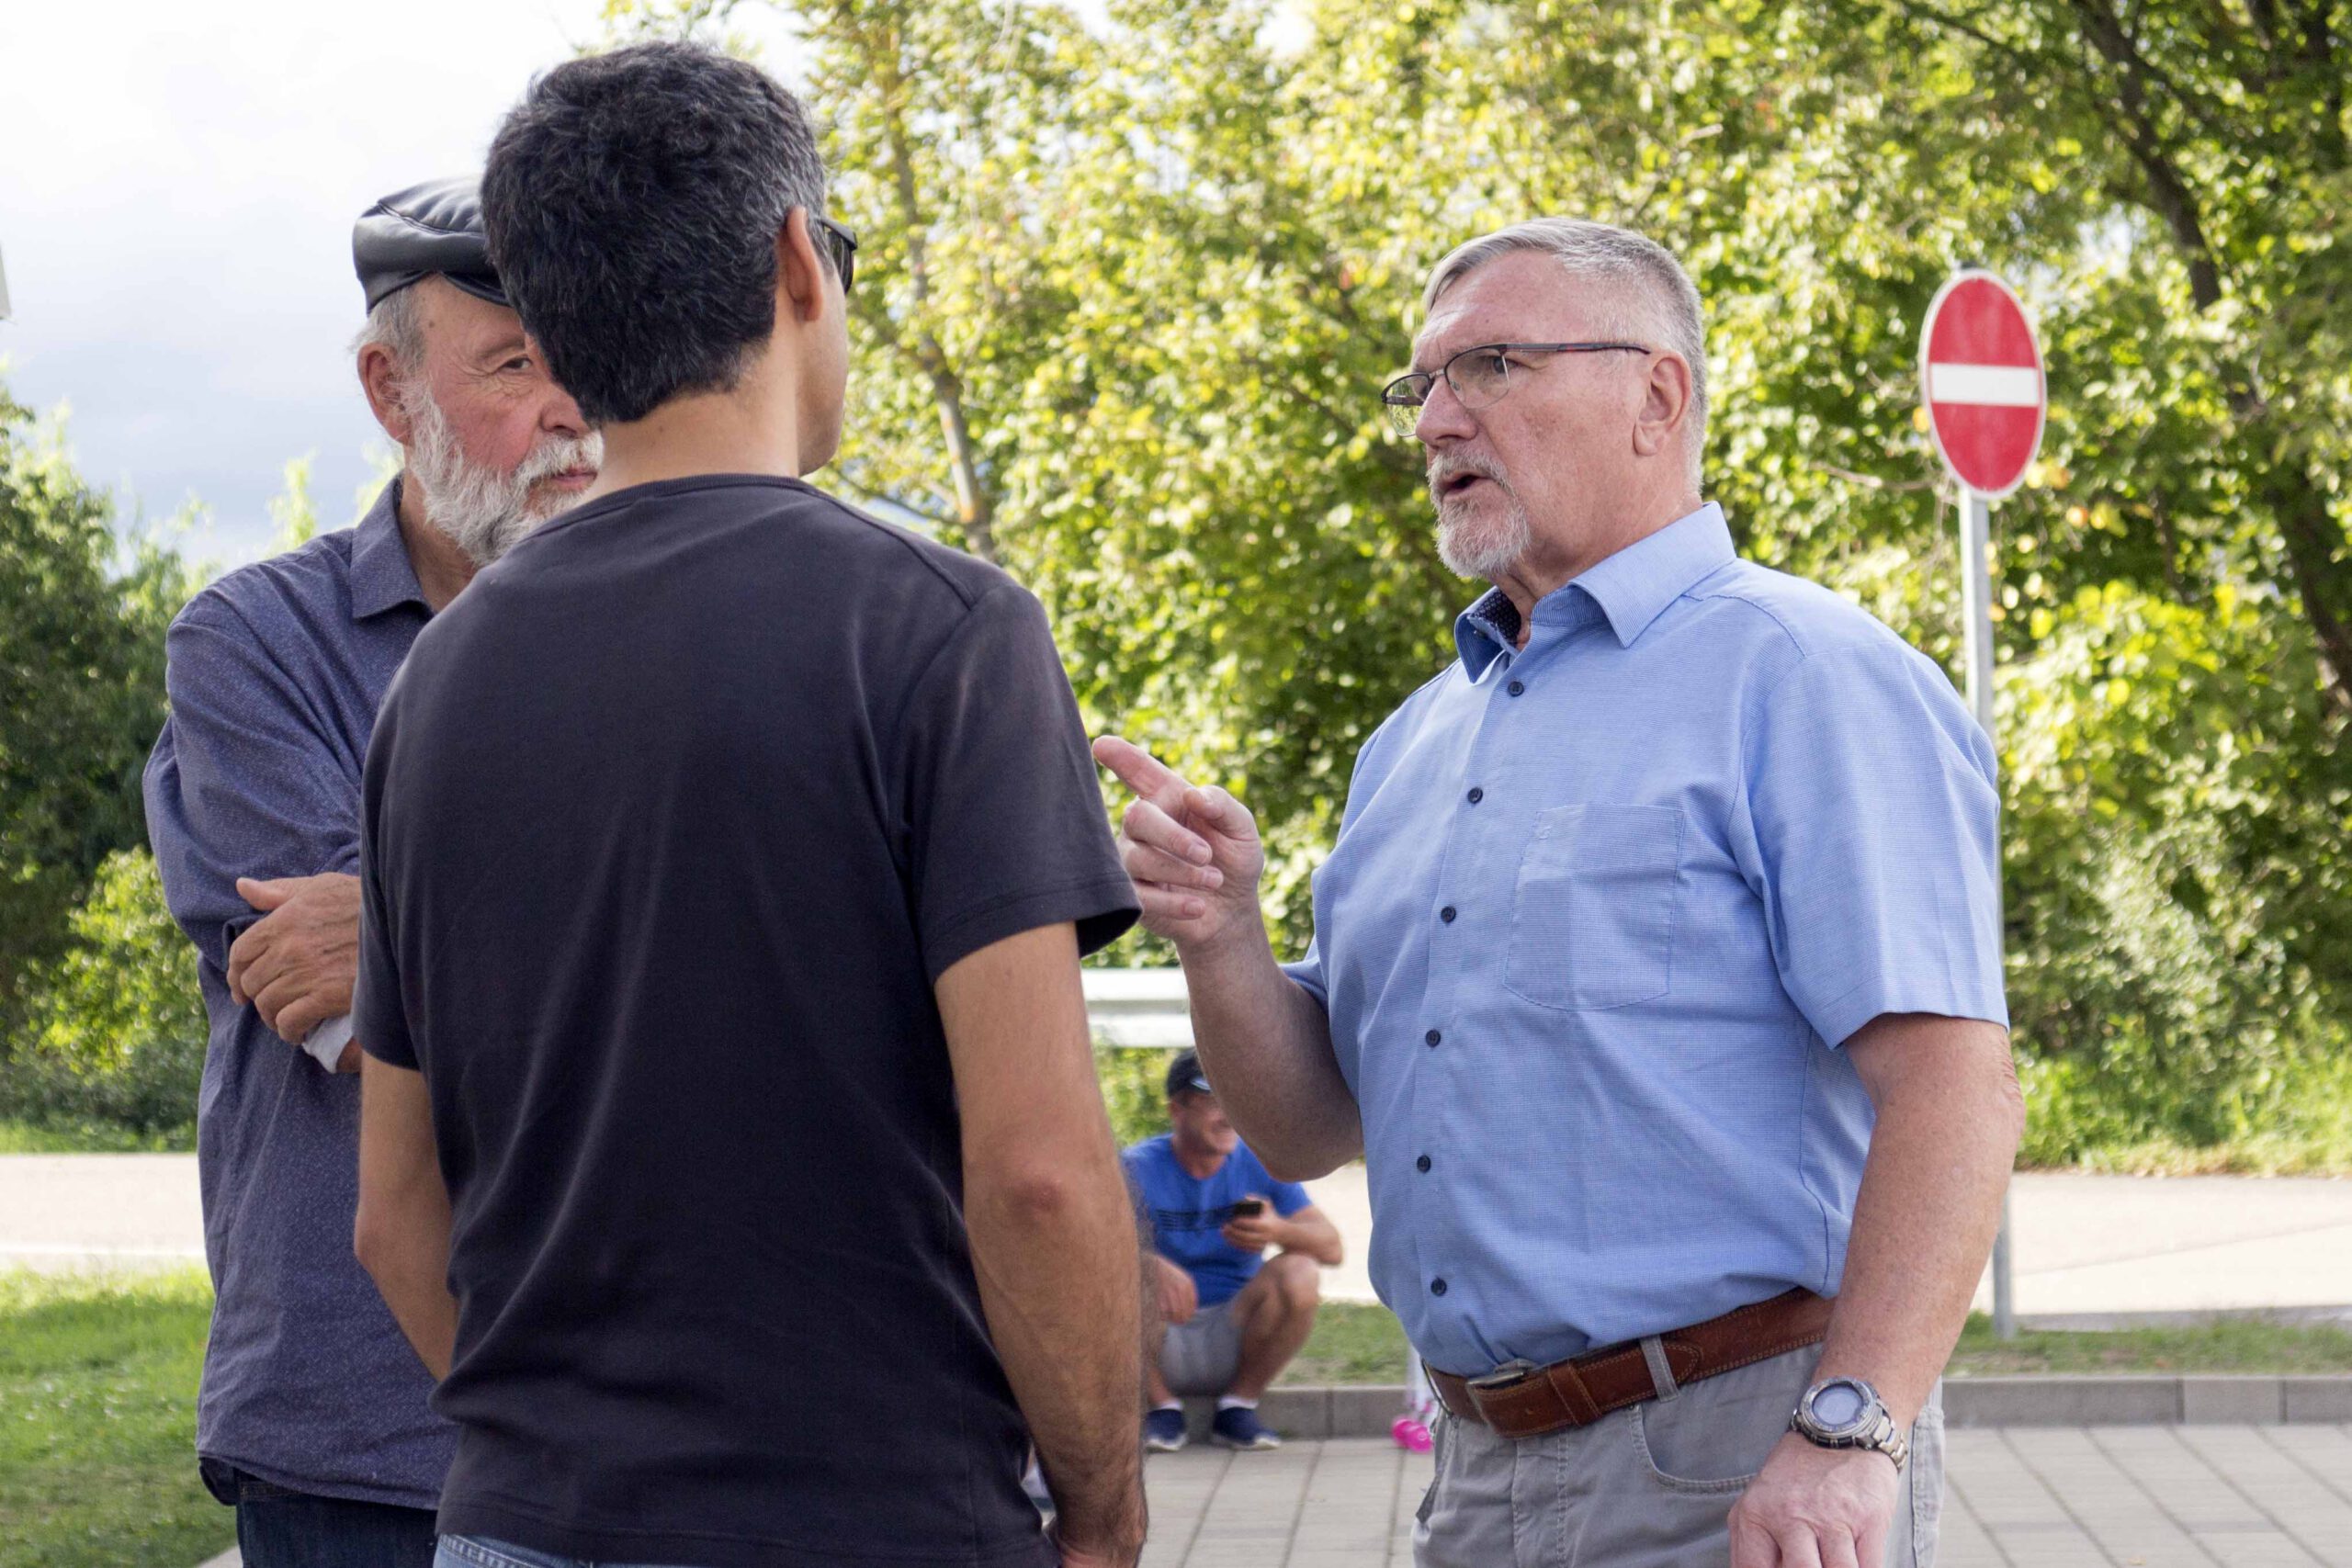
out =
<svg viewBox="0 0 2352 1568"><path fill-rule="evenodd" d="M823 205L800 103L691 45L557 66L489 153L607 456L367 757L358 1251L459 1427L459 1568L1141 1549L1077 971L1134 889L1037 602L800 480L849 355Z"/></svg>

